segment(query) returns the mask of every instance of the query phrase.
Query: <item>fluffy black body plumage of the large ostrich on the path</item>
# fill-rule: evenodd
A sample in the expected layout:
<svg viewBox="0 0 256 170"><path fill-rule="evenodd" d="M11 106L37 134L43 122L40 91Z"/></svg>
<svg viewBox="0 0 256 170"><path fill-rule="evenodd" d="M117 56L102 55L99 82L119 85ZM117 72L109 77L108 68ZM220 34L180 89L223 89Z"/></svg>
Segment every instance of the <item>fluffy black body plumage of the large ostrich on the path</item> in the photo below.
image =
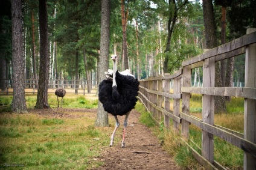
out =
<svg viewBox="0 0 256 170"><path fill-rule="evenodd" d="M105 79L99 85L98 97L104 111L112 115L125 115L137 102L139 82L132 76L116 73L117 87L112 88L112 80Z"/></svg>

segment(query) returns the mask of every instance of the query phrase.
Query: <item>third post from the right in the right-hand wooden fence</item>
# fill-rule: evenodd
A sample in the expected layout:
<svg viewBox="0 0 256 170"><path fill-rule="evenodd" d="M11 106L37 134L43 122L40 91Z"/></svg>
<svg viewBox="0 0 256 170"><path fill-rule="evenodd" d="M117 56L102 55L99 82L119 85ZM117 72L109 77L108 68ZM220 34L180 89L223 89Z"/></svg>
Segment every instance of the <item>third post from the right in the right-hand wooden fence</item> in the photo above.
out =
<svg viewBox="0 0 256 170"><path fill-rule="evenodd" d="M191 83L191 65L187 65L183 68L183 87L190 87ZM190 115L190 93L182 93L182 112ZM188 139L188 132L190 130L190 123L184 119L181 122L181 135Z"/></svg>

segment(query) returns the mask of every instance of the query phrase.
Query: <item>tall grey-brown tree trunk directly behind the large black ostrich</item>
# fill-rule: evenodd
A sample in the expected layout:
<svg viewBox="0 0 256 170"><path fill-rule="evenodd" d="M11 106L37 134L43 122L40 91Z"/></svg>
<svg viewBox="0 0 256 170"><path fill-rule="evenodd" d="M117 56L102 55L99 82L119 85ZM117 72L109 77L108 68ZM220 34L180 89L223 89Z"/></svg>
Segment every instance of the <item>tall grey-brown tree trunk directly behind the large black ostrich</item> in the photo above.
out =
<svg viewBox="0 0 256 170"><path fill-rule="evenodd" d="M110 0L101 1L101 34L100 34L100 62L98 65L98 82L105 79L104 71L109 67L109 35L110 35ZM98 102L95 126L109 126L107 112L102 103Z"/></svg>

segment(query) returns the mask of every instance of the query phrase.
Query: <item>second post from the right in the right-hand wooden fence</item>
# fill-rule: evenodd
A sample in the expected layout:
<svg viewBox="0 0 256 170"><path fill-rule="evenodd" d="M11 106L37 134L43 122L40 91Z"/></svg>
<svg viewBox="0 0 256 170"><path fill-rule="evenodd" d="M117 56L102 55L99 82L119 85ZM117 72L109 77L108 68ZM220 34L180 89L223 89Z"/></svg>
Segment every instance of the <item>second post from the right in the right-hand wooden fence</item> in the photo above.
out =
<svg viewBox="0 0 256 170"><path fill-rule="evenodd" d="M203 61L203 87L214 87L215 56ZM202 120L214 125L214 96L203 95ZM214 161L213 134L202 130L202 156L210 163Z"/></svg>

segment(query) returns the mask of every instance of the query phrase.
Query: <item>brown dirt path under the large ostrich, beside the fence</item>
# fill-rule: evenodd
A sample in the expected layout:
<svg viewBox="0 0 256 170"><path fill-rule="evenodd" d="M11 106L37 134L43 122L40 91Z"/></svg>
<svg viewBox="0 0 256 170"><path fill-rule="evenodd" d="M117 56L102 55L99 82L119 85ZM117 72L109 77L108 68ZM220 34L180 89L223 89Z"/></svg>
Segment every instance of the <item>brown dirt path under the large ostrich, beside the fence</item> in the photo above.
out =
<svg viewBox="0 0 256 170"><path fill-rule="evenodd" d="M106 162L97 169L180 169L162 149L156 136L139 123L139 113L135 110L130 113L128 120L126 147L121 148L124 117L118 117L118 120L120 127L115 136L114 146L107 148L97 158Z"/></svg>

